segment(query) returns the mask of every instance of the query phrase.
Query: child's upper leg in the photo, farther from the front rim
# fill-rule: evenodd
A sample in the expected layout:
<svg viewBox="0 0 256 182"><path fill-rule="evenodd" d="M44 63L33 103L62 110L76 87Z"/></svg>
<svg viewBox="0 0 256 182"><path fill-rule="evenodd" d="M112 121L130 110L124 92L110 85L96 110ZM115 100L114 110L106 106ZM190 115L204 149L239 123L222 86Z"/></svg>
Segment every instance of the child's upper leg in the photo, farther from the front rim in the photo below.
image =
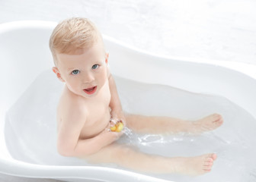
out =
<svg viewBox="0 0 256 182"><path fill-rule="evenodd" d="M202 133L214 130L223 123L219 114L209 115L198 121L178 118L126 115L126 125L137 133Z"/></svg>

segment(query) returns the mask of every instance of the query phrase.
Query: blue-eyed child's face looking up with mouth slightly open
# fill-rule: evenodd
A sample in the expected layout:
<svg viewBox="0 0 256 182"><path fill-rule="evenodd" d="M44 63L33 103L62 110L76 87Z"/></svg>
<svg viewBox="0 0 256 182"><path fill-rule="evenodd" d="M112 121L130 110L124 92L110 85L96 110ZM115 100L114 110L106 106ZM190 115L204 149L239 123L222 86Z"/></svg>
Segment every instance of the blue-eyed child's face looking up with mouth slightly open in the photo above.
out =
<svg viewBox="0 0 256 182"><path fill-rule="evenodd" d="M103 43L96 42L81 55L57 54L61 80L72 93L89 98L96 96L107 80L107 54Z"/></svg>

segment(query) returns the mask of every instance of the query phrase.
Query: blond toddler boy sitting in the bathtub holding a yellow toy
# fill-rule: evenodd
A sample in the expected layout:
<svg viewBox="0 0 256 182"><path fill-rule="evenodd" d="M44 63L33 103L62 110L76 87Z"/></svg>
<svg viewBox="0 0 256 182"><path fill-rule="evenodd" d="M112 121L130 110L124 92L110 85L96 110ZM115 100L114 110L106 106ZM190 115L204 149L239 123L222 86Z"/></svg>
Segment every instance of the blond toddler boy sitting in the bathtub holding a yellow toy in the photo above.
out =
<svg viewBox="0 0 256 182"><path fill-rule="evenodd" d="M74 17L58 24L50 37L50 50L55 64L53 72L65 83L57 108L60 155L152 173L198 175L211 170L214 153L175 158L149 155L114 143L123 132L110 127L121 122L137 133L198 134L219 127L223 122L221 115L184 121L124 113L101 33L88 19Z"/></svg>

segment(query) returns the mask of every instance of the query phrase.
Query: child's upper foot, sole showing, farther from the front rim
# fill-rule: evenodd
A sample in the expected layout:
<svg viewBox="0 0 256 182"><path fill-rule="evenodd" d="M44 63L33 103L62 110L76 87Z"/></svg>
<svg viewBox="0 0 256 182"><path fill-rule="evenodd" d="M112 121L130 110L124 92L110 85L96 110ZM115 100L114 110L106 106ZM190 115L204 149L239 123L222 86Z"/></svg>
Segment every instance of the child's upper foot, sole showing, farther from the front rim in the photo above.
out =
<svg viewBox="0 0 256 182"><path fill-rule="evenodd" d="M215 130L223 123L223 118L219 114L213 114L206 116L200 120L192 122L193 127L190 129L190 133L203 133L209 130Z"/></svg>

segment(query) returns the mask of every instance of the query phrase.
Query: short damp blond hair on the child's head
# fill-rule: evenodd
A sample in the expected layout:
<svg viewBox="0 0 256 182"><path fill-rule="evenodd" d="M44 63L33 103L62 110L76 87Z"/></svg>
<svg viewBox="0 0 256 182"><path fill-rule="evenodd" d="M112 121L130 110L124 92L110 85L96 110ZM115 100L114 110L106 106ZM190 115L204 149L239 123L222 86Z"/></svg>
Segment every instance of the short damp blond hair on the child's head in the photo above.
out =
<svg viewBox="0 0 256 182"><path fill-rule="evenodd" d="M57 65L56 53L78 54L98 40L102 41L101 33L87 18L72 17L63 20L50 36L49 46L54 64Z"/></svg>

